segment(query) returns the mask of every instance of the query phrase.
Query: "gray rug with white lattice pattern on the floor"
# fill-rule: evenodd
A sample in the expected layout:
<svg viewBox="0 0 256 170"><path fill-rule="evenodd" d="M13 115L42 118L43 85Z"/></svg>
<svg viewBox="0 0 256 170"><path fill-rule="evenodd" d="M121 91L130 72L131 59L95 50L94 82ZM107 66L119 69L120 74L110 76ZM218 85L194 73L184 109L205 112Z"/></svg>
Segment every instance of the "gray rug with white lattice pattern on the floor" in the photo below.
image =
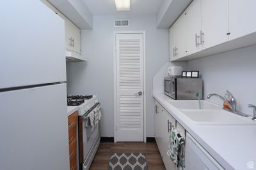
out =
<svg viewBox="0 0 256 170"><path fill-rule="evenodd" d="M108 170L148 170L145 153L111 153Z"/></svg>

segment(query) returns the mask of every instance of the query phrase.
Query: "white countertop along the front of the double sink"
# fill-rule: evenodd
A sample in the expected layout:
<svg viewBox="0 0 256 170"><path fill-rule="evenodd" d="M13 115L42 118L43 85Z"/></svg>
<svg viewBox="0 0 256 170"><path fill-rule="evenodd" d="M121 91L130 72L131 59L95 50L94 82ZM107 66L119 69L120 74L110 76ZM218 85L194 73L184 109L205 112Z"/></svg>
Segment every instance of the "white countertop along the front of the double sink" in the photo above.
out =
<svg viewBox="0 0 256 170"><path fill-rule="evenodd" d="M167 102L172 98L154 94L154 99L225 169L248 169L250 161L256 164L256 122L255 125L196 125Z"/></svg>

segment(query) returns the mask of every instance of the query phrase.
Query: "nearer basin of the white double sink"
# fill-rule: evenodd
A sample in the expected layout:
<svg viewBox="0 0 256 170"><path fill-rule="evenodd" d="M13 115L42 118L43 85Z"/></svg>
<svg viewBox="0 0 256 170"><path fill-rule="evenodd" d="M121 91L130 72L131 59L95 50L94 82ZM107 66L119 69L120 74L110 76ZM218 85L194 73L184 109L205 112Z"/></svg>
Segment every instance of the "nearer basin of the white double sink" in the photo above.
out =
<svg viewBox="0 0 256 170"><path fill-rule="evenodd" d="M248 117L241 117L225 110L180 110L195 124L205 125L256 125Z"/></svg>

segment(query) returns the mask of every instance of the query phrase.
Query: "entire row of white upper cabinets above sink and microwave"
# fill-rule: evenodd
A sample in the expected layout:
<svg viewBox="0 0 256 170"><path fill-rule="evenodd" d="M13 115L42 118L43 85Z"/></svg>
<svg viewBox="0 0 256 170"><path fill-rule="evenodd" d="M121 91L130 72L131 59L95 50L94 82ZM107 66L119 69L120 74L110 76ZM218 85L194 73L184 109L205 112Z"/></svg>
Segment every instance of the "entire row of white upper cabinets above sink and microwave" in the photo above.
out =
<svg viewBox="0 0 256 170"><path fill-rule="evenodd" d="M170 28L170 60L256 44L255 0L194 0Z"/></svg>

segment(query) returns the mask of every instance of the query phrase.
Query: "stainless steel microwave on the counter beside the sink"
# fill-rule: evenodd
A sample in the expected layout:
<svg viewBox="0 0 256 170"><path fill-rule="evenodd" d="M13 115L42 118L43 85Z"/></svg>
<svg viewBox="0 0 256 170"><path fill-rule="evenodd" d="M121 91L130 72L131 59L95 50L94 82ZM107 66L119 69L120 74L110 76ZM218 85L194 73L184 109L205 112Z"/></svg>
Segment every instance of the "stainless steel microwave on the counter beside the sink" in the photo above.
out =
<svg viewBox="0 0 256 170"><path fill-rule="evenodd" d="M195 100L196 93L204 99L202 78L164 78L164 94L175 100Z"/></svg>

